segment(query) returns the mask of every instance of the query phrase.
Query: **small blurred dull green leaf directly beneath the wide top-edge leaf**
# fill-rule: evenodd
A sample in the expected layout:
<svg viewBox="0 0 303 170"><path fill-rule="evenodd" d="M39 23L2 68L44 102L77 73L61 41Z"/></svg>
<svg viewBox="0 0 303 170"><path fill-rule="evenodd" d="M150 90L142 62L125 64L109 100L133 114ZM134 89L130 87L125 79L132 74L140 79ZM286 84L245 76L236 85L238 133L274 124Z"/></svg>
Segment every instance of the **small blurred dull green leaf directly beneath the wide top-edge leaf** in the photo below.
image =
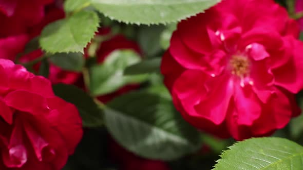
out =
<svg viewBox="0 0 303 170"><path fill-rule="evenodd" d="M165 29L164 25L141 26L138 33L138 42L144 55L154 57L161 52L160 35Z"/></svg>

